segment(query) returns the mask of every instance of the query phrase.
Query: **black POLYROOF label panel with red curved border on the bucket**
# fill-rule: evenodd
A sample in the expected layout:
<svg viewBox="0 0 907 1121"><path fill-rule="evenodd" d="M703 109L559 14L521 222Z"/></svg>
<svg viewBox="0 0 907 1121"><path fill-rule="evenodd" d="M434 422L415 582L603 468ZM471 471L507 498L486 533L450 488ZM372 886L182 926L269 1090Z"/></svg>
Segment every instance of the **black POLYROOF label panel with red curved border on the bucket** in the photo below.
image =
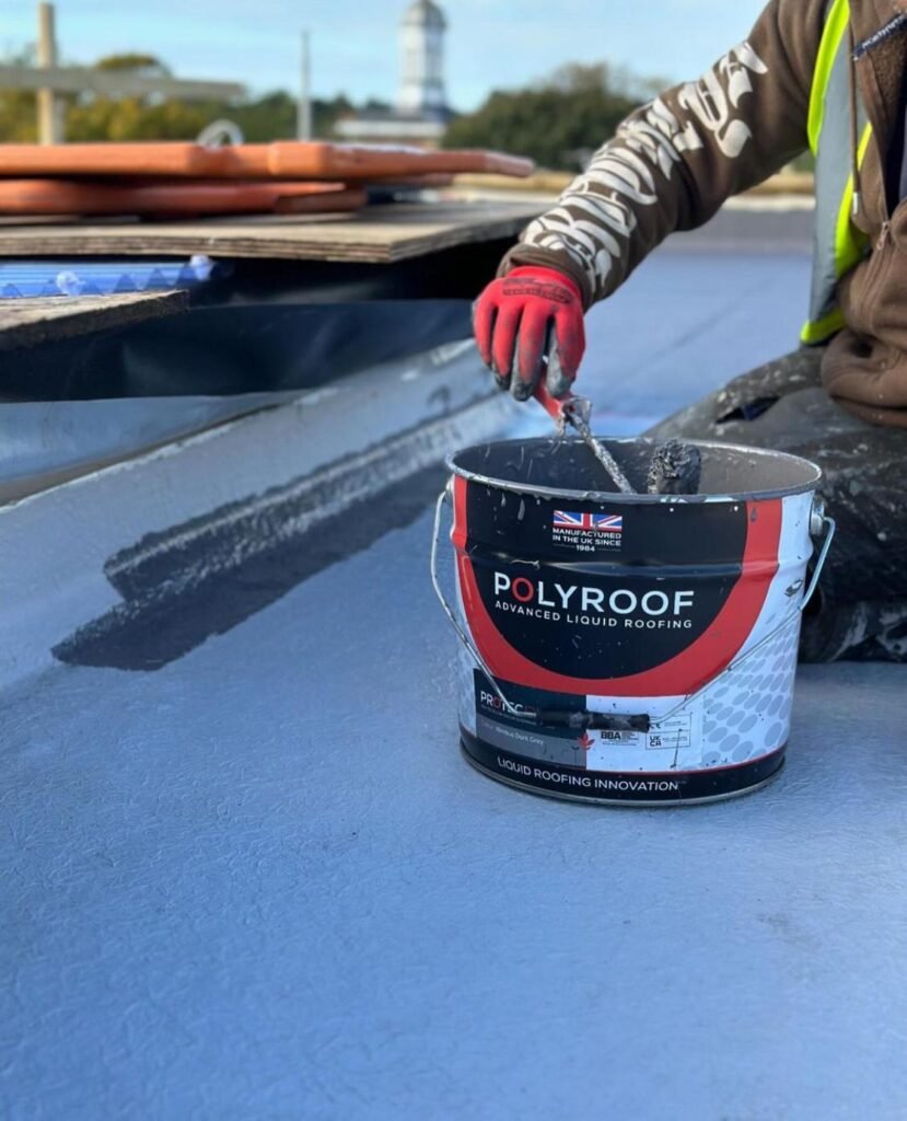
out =
<svg viewBox="0 0 907 1121"><path fill-rule="evenodd" d="M473 639L494 674L553 693L695 692L744 646L778 567L775 500L620 510L458 479L455 504Z"/></svg>

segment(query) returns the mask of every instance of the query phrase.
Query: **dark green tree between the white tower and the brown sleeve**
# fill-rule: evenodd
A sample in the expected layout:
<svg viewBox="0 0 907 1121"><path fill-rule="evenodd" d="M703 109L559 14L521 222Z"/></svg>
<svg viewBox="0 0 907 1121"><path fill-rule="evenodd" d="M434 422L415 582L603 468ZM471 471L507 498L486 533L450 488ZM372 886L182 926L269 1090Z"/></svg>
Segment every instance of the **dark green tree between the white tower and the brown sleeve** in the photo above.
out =
<svg viewBox="0 0 907 1121"><path fill-rule="evenodd" d="M564 66L540 85L493 92L475 113L451 122L443 143L496 148L574 170L642 102L624 92L627 84L627 75L607 63Z"/></svg>

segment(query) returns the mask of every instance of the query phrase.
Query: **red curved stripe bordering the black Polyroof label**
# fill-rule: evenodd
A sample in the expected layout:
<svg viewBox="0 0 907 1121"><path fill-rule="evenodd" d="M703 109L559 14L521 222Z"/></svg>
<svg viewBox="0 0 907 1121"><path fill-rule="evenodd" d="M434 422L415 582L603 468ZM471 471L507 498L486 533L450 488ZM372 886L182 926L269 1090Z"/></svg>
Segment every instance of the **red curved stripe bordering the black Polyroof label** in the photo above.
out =
<svg viewBox="0 0 907 1121"><path fill-rule="evenodd" d="M752 633L778 571L782 499L747 503L747 543L742 572L711 627L670 661L630 677L568 677L530 661L495 627L479 594L473 563L466 556L468 538L466 495L468 482L454 480L455 519L451 539L457 549L466 620L473 639L495 677L548 689L586 696L664 697L685 696L717 677L733 661Z"/></svg>

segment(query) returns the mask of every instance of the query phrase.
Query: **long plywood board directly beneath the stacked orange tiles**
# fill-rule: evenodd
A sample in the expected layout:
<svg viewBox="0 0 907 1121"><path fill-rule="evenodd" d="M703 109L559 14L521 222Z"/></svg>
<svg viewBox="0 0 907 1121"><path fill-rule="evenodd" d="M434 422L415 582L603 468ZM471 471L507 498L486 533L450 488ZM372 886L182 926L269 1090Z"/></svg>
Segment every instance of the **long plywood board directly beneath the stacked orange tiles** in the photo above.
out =
<svg viewBox="0 0 907 1121"><path fill-rule="evenodd" d="M262 215L198 222L2 226L0 257L189 257L385 265L473 242L514 238L542 205L398 204L354 215Z"/></svg>

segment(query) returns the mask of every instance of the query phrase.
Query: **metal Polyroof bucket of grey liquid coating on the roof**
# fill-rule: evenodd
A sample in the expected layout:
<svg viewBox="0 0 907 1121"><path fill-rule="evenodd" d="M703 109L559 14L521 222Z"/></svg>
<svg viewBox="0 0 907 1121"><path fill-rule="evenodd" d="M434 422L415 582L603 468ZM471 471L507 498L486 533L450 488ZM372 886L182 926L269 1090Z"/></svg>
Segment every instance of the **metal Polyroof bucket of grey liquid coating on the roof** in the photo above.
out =
<svg viewBox="0 0 907 1121"><path fill-rule="evenodd" d="M605 444L644 489L653 445ZM780 769L801 615L834 522L815 464L698 446L690 498L597 489L580 441L450 457L432 578L464 647L460 734L479 770L536 794L677 805L748 793ZM456 608L438 580L447 501Z"/></svg>

